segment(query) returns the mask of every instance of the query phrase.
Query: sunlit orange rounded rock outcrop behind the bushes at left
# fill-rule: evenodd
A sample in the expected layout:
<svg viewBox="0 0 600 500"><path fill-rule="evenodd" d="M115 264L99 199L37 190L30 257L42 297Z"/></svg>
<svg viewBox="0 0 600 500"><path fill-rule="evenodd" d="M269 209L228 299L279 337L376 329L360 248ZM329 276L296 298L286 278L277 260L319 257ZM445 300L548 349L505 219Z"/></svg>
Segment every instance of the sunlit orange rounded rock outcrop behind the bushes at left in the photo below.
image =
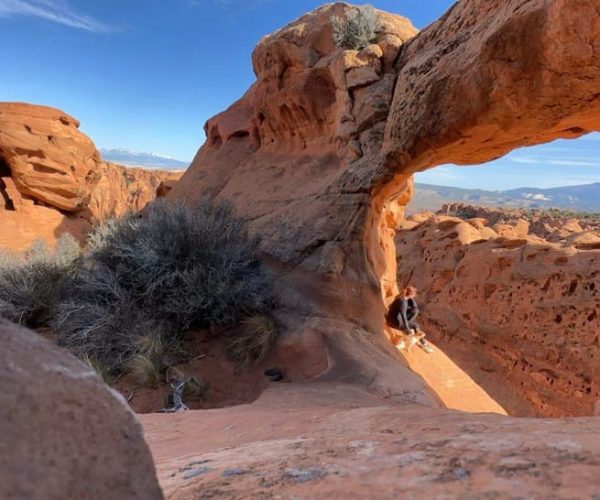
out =
<svg viewBox="0 0 600 500"><path fill-rule="evenodd" d="M90 224L143 208L162 181L181 175L106 163L78 127L54 108L0 103L0 246L81 237Z"/></svg>

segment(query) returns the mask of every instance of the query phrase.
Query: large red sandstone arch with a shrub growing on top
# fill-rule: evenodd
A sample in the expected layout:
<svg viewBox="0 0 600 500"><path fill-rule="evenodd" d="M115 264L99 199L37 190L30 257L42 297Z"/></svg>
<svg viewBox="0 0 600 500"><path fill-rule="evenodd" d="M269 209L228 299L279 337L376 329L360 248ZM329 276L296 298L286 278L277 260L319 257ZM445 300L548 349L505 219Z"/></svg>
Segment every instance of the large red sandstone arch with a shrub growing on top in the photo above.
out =
<svg viewBox="0 0 600 500"><path fill-rule="evenodd" d="M425 400L378 335L411 175L599 129L600 2L464 0L418 34L381 13L361 52L331 42L330 16L348 8L261 40L257 82L208 121L171 195L226 198L247 214L280 273L290 335L315 334L344 367L330 377ZM305 92L317 73L335 85L331 105Z"/></svg>

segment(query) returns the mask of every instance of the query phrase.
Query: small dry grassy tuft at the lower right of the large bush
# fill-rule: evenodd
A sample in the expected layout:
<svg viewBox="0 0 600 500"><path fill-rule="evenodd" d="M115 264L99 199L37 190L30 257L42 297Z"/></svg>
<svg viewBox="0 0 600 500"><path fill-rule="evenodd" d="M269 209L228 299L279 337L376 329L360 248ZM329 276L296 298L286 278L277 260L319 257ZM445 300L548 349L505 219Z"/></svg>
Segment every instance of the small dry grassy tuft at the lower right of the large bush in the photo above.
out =
<svg viewBox="0 0 600 500"><path fill-rule="evenodd" d="M239 368L260 363L277 339L277 325L270 316L256 314L242 322L240 331L223 338L225 352Z"/></svg>

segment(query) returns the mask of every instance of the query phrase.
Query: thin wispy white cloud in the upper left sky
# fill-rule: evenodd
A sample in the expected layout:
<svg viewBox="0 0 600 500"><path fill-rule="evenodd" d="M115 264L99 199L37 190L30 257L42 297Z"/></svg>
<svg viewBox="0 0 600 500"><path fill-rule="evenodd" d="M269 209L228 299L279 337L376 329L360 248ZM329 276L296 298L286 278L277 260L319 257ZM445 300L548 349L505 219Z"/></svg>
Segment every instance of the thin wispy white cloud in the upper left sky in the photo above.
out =
<svg viewBox="0 0 600 500"><path fill-rule="evenodd" d="M100 21L75 11L66 0L0 0L0 17L11 16L39 17L94 33L109 31Z"/></svg>

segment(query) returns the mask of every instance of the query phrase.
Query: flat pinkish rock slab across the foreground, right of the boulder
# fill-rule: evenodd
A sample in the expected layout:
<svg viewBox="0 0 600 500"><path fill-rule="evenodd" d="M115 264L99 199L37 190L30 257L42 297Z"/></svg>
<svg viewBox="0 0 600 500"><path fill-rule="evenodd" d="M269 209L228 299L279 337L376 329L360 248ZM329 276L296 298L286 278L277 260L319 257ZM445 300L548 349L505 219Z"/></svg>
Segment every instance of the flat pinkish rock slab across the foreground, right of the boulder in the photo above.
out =
<svg viewBox="0 0 600 500"><path fill-rule="evenodd" d="M566 499L600 489L597 418L468 415L325 383L141 418L171 499Z"/></svg>

